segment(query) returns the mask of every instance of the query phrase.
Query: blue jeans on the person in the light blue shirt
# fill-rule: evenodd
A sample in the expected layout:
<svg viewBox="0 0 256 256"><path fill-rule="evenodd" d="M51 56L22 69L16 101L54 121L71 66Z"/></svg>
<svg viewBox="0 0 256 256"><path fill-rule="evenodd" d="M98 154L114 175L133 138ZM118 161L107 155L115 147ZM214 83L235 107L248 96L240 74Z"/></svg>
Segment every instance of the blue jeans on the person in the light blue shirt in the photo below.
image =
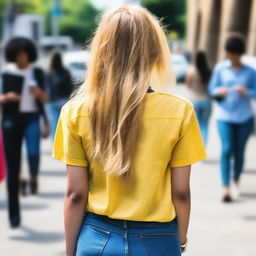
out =
<svg viewBox="0 0 256 256"><path fill-rule="evenodd" d="M238 182L243 170L246 142L253 131L253 118L241 124L217 121L221 140L221 179L223 186L229 186L231 159L234 159L233 179Z"/></svg>

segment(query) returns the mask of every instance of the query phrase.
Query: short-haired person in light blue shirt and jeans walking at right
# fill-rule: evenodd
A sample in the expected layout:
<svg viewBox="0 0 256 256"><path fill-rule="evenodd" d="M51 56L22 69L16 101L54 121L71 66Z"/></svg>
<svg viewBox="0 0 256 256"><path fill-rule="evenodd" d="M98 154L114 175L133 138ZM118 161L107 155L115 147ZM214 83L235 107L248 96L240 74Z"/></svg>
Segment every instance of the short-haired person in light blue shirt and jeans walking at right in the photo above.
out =
<svg viewBox="0 0 256 256"><path fill-rule="evenodd" d="M238 195L245 146L253 130L251 99L256 96L256 71L241 62L245 44L240 37L228 38L225 50L227 59L214 68L209 83L209 94L217 100L217 127L222 147L222 201L232 202L231 175ZM233 166L231 160L234 160Z"/></svg>

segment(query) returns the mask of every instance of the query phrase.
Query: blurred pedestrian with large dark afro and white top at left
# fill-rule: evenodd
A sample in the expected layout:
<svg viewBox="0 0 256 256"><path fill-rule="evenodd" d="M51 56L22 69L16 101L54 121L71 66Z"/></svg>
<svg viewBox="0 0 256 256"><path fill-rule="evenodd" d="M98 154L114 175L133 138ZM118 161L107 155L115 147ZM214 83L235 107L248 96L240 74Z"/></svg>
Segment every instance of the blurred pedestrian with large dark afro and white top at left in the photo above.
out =
<svg viewBox="0 0 256 256"><path fill-rule="evenodd" d="M40 109L47 95L36 82L34 68L37 50L32 41L17 37L5 48L7 62L13 63L3 71L2 129L7 162L8 209L11 227L20 224L19 177L22 140L25 139L30 171L30 189L37 193L40 145ZM21 186L24 186L24 182Z"/></svg>

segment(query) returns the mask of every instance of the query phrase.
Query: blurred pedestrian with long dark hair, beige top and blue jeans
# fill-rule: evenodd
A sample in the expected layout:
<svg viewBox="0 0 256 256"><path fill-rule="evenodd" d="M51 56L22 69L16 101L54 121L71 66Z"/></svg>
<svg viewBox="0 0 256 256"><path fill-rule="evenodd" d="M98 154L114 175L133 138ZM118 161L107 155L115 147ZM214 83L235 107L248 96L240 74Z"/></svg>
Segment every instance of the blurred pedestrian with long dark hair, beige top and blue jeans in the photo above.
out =
<svg viewBox="0 0 256 256"><path fill-rule="evenodd" d="M203 51L198 51L195 56L195 64L187 73L186 86L189 89L189 99L194 105L205 145L207 144L208 123L212 111L211 99L207 90L210 75L211 70L206 55Z"/></svg>

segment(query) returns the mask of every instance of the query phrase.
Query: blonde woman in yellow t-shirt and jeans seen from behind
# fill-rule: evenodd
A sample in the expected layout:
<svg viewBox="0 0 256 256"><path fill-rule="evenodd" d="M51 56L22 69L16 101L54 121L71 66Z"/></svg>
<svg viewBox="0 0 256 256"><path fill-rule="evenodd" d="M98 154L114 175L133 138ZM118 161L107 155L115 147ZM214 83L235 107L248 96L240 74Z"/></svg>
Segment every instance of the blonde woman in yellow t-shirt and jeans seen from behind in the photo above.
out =
<svg viewBox="0 0 256 256"><path fill-rule="evenodd" d="M192 105L150 88L171 81L165 34L148 11L121 7L91 55L54 144L67 165L66 255L181 255L190 165L206 155Z"/></svg>

